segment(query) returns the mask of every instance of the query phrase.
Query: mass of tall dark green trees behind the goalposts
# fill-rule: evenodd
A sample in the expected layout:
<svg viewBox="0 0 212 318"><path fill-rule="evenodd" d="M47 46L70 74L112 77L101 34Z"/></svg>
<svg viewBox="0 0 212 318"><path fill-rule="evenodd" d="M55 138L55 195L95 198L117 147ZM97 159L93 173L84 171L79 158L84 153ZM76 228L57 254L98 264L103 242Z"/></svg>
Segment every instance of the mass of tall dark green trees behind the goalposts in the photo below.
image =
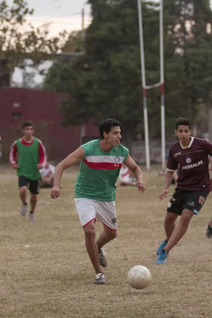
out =
<svg viewBox="0 0 212 318"><path fill-rule="evenodd" d="M130 144L143 131L137 1L89 0L92 23L86 30L85 55L54 66L45 88L62 89L70 98L61 107L65 126L92 118L116 117ZM160 81L159 11L142 2L147 85ZM197 121L211 94L211 10L209 1L164 0L165 115L167 135L179 115ZM52 82L52 78L54 78ZM64 85L63 85L63 84ZM160 138L160 90L147 93L149 133ZM198 114L198 115L197 115Z"/></svg>

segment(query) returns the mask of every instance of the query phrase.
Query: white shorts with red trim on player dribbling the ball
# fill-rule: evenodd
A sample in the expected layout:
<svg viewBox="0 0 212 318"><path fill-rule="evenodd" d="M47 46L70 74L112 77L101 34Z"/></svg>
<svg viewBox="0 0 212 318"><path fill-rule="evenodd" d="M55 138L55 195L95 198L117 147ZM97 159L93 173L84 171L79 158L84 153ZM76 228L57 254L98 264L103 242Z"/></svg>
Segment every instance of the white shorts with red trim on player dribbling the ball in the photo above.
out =
<svg viewBox="0 0 212 318"><path fill-rule="evenodd" d="M117 230L114 201L102 202L85 198L75 198L74 201L82 227L85 227L92 220L97 220L105 224L109 229Z"/></svg>

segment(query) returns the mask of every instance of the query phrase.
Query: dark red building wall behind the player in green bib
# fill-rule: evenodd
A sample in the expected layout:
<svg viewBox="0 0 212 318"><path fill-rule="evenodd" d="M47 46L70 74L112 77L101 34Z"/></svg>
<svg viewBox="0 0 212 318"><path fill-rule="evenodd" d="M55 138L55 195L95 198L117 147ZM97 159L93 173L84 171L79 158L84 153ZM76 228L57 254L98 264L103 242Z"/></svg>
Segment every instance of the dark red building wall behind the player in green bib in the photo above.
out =
<svg viewBox="0 0 212 318"><path fill-rule="evenodd" d="M10 145L22 136L22 124L30 120L35 136L45 145L48 156L56 161L63 159L80 146L99 136L98 127L92 123L62 128L63 116L58 107L67 94L28 88L9 87L0 89L0 136L3 158L7 159Z"/></svg>

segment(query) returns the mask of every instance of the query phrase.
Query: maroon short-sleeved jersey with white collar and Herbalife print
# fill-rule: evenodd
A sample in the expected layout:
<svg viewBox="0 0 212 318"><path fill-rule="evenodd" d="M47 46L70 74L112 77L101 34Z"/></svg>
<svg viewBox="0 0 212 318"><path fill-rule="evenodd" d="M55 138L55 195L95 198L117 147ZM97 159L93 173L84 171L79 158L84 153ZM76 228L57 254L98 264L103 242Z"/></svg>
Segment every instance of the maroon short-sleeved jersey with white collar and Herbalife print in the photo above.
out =
<svg viewBox="0 0 212 318"><path fill-rule="evenodd" d="M212 156L212 144L200 138L191 137L188 148L180 141L170 147L167 170L176 170L180 163L176 189L211 190L208 155Z"/></svg>

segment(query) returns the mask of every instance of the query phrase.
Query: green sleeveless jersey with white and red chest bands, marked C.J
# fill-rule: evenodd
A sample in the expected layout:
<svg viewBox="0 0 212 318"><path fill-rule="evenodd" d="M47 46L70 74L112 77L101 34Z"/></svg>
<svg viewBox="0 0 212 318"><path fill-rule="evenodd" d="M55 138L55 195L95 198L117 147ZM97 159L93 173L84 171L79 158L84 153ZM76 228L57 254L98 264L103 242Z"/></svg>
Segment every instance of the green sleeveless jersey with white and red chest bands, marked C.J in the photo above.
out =
<svg viewBox="0 0 212 318"><path fill-rule="evenodd" d="M82 145L85 156L80 163L75 198L115 200L116 181L129 150L119 144L118 147L112 147L110 152L104 152L99 141L92 140Z"/></svg>

